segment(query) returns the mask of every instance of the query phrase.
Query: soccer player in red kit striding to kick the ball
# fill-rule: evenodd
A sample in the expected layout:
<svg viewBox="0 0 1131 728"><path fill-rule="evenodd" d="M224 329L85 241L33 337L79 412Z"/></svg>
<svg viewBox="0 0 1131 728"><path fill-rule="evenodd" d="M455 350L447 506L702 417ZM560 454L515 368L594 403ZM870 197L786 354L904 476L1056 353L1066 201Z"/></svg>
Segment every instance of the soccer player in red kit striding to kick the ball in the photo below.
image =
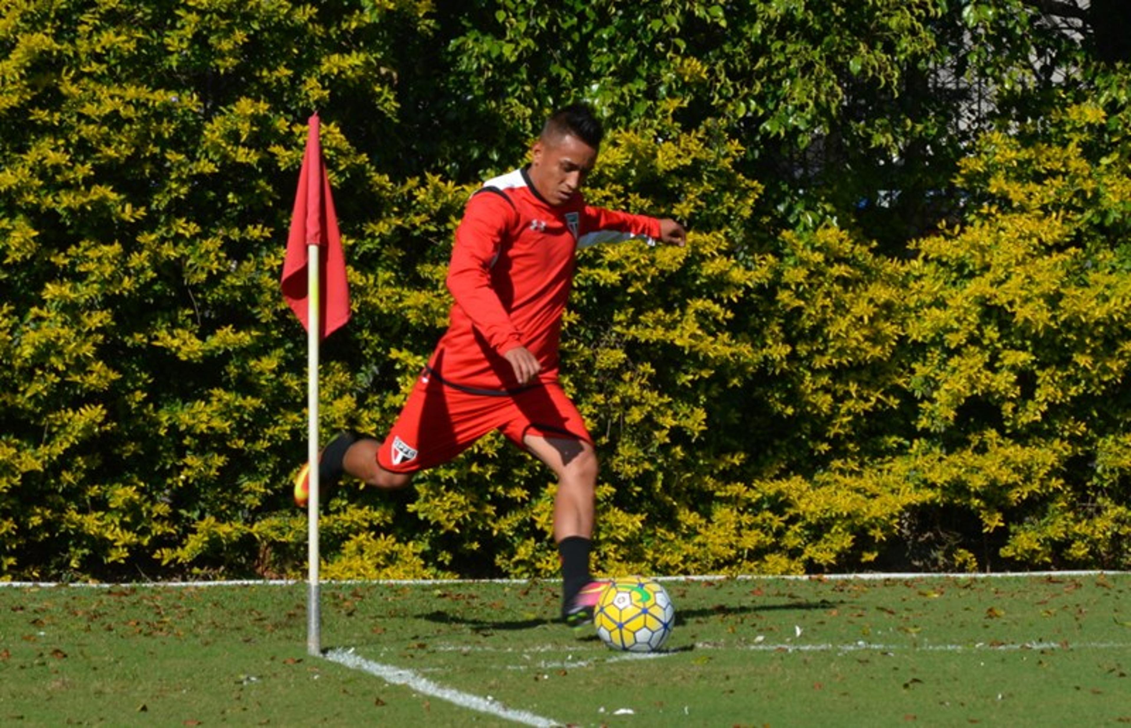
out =
<svg viewBox="0 0 1131 728"><path fill-rule="evenodd" d="M493 430L558 477L554 540L562 564L562 619L593 619L604 586L589 572L597 457L593 437L558 381L562 311L575 253L598 242L645 237L683 245L672 219L586 205L581 185L597 161L601 122L585 105L554 112L529 164L489 180L468 200L448 269L455 298L448 330L383 441L340 433L319 459L329 491L343 474L380 488L446 462ZM308 467L294 496L308 502Z"/></svg>

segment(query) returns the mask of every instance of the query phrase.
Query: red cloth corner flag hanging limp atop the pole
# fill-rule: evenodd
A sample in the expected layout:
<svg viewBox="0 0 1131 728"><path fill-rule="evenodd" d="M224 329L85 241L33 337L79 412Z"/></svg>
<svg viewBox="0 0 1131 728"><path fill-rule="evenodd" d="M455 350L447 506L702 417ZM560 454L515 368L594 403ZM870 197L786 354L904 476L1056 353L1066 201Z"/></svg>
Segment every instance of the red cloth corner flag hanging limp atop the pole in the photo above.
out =
<svg viewBox="0 0 1131 728"><path fill-rule="evenodd" d="M310 118L307 154L302 158L302 172L299 173L291 236L286 242L286 259L283 261L283 297L302 321L303 328L310 331L308 245L318 245L320 255L318 286L325 294L320 296L316 291L314 303L319 318L318 330L321 338L326 338L349 320L349 287L346 283L346 261L342 254L342 234L338 232L338 218L330 196L330 180L322 162L318 114Z"/></svg>

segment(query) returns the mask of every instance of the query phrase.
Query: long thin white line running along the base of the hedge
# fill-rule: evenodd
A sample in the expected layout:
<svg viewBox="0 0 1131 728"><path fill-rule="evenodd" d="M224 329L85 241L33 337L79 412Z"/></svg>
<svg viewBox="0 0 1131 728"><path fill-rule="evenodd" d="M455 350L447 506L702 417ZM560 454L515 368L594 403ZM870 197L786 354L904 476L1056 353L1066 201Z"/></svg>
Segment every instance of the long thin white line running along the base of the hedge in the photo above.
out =
<svg viewBox="0 0 1131 728"><path fill-rule="evenodd" d="M709 574L709 575L685 575L685 577L654 577L656 581L769 581L772 579L784 579L787 581L841 581L863 580L882 581L886 579L1010 579L1025 577L1115 577L1131 574L1131 571L1002 571L1002 572L862 572L854 574ZM348 584L389 584L389 586L412 586L412 584L528 584L538 581L554 581L553 578L545 579L346 579L340 581L322 580L323 586L348 586ZM0 581L0 588L5 587L87 587L87 588L127 588L127 587L294 587L305 584L302 579L235 579L225 581L137 581L137 582L67 582L67 581Z"/></svg>

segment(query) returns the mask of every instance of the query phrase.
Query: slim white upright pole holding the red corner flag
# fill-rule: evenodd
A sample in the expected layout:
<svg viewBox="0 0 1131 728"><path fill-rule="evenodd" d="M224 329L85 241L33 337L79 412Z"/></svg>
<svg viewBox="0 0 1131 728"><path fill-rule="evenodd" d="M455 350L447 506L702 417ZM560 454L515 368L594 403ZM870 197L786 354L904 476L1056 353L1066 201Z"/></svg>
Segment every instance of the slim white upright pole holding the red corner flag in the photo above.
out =
<svg viewBox="0 0 1131 728"><path fill-rule="evenodd" d="M319 267L321 251L317 244L307 245L307 409L310 413L307 440L307 462L310 473L310 500L307 504L307 530L309 562L309 586L307 589L307 652L314 656L322 653L322 614L319 589L319 553L318 553L318 343L321 337L320 306L322 292L319 288Z"/></svg>

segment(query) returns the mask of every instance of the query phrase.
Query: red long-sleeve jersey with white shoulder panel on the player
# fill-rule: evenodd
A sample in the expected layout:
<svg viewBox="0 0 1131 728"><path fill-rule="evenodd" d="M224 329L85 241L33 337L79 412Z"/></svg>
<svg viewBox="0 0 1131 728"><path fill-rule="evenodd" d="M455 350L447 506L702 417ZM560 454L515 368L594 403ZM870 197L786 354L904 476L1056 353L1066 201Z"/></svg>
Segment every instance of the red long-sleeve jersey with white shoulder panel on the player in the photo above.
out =
<svg viewBox="0 0 1131 728"><path fill-rule="evenodd" d="M485 182L456 229L448 268L456 302L429 361L432 374L463 388L515 390L503 354L525 346L542 364L539 382L556 381L576 251L638 236L658 239L659 220L590 207L580 193L552 206L526 168Z"/></svg>

